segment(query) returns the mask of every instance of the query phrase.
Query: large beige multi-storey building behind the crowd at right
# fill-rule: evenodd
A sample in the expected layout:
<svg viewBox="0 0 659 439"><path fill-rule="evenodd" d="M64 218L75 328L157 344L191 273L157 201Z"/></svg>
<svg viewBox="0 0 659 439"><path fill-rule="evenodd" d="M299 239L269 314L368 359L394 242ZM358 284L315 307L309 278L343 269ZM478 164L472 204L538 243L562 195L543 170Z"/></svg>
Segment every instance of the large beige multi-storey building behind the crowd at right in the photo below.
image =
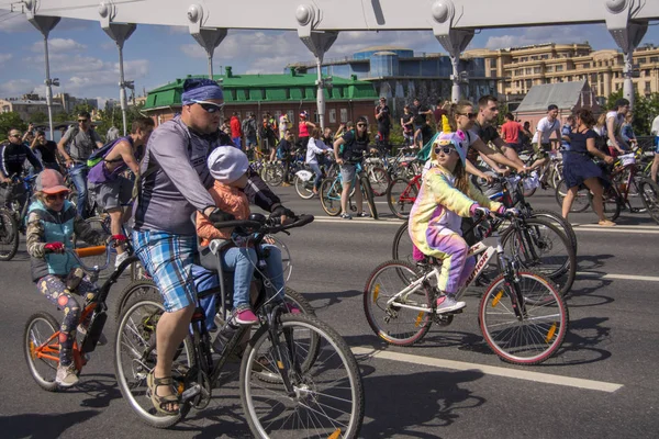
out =
<svg viewBox="0 0 659 439"><path fill-rule="evenodd" d="M485 58L485 77L500 78L498 92L509 101L520 101L533 86L544 83L587 80L592 91L604 99L623 88L623 54L593 50L588 43L472 49L463 56ZM634 78L637 92L659 92L659 47L648 44L637 48L634 65L638 70L638 78Z"/></svg>

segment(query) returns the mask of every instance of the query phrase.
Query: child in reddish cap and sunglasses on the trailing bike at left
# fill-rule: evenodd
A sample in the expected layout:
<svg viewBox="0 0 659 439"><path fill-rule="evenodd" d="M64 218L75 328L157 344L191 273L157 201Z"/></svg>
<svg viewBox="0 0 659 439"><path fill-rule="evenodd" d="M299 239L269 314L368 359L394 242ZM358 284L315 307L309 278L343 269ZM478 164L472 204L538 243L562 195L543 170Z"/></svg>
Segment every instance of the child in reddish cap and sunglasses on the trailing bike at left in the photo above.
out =
<svg viewBox="0 0 659 439"><path fill-rule="evenodd" d="M92 229L76 213L76 206L67 200L68 193L59 172L44 170L36 179L35 201L30 205L27 215L27 254L32 280L37 290L64 312L64 320L59 327L59 367L55 378L62 387L78 383L72 346L82 307L70 290L76 290L86 301L93 299L98 292L89 278L82 275L76 259L67 255L66 250L74 247L74 233L91 245L105 245L108 239L108 235ZM112 238L118 241L126 239L123 235ZM101 338L99 344L103 342L104 338Z"/></svg>

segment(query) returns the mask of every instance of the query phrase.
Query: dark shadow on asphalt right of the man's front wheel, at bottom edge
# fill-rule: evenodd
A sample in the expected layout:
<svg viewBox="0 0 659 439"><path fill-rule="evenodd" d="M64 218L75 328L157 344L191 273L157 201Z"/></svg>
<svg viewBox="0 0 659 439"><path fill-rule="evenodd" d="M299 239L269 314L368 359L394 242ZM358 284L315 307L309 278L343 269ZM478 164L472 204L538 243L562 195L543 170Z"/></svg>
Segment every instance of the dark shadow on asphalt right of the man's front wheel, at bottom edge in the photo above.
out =
<svg viewBox="0 0 659 439"><path fill-rule="evenodd" d="M460 387L462 383L484 376L482 372L415 372L413 364L404 368L400 375L364 379L367 404L360 437L435 439L439 437L437 431L415 430L449 426L460 418L462 412L487 402Z"/></svg>

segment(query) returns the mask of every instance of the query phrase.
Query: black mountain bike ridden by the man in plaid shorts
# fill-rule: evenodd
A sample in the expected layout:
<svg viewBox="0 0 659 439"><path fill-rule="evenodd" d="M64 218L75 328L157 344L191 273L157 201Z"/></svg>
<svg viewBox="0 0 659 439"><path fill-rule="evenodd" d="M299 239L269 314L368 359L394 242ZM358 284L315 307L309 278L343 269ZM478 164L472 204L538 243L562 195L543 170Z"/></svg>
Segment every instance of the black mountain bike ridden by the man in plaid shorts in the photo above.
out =
<svg viewBox="0 0 659 439"><path fill-rule="evenodd" d="M302 215L290 225L275 225L253 214L248 221L214 226L237 227L238 233L242 229L257 249L257 268L263 268L260 243L267 234L312 221L313 216ZM239 369L241 402L252 434L258 438L356 438L364 420L364 387L349 347L321 320L305 314L287 314L282 303L271 300L271 282L261 270L255 270L255 279L259 288L254 309L259 324L254 325L258 329L242 352ZM200 294L200 299L203 296ZM227 360L252 330L238 326L223 345L220 358L214 359L204 313L198 308L190 336L179 347L172 364L179 413L159 415L146 381L156 364L156 326L163 313L157 290L145 290L129 299L114 346L116 381L123 396L143 421L157 428L174 426L191 408L203 409L210 404ZM226 315L223 317L226 320Z"/></svg>

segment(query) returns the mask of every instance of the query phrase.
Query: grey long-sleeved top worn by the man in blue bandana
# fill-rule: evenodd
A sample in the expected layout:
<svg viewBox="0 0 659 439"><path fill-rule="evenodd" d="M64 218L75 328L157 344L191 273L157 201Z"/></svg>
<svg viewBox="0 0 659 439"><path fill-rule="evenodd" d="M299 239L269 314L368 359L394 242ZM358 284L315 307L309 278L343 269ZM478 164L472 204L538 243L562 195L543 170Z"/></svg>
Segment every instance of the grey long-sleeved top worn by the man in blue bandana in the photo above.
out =
<svg viewBox="0 0 659 439"><path fill-rule="evenodd" d="M158 126L148 139L139 172L159 168L142 180L142 199L135 209L136 230L161 230L194 235L191 216L196 211L215 206L208 192L213 185L206 157L219 146L181 122L180 116Z"/></svg>

